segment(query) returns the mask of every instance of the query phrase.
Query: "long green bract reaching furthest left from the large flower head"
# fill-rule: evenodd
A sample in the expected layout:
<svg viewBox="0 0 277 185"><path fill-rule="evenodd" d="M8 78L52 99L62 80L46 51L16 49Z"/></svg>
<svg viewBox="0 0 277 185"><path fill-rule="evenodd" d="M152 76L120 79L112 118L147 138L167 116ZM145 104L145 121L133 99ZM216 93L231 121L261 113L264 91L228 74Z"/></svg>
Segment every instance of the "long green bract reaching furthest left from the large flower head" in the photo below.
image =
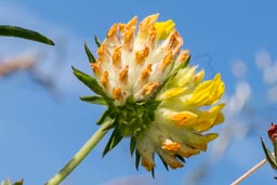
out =
<svg viewBox="0 0 277 185"><path fill-rule="evenodd" d="M74 75L81 81L83 82L88 88L90 88L94 93L103 96L104 98L106 97L105 92L103 91L103 88L98 84L97 80L80 70L75 68L72 66Z"/></svg>

